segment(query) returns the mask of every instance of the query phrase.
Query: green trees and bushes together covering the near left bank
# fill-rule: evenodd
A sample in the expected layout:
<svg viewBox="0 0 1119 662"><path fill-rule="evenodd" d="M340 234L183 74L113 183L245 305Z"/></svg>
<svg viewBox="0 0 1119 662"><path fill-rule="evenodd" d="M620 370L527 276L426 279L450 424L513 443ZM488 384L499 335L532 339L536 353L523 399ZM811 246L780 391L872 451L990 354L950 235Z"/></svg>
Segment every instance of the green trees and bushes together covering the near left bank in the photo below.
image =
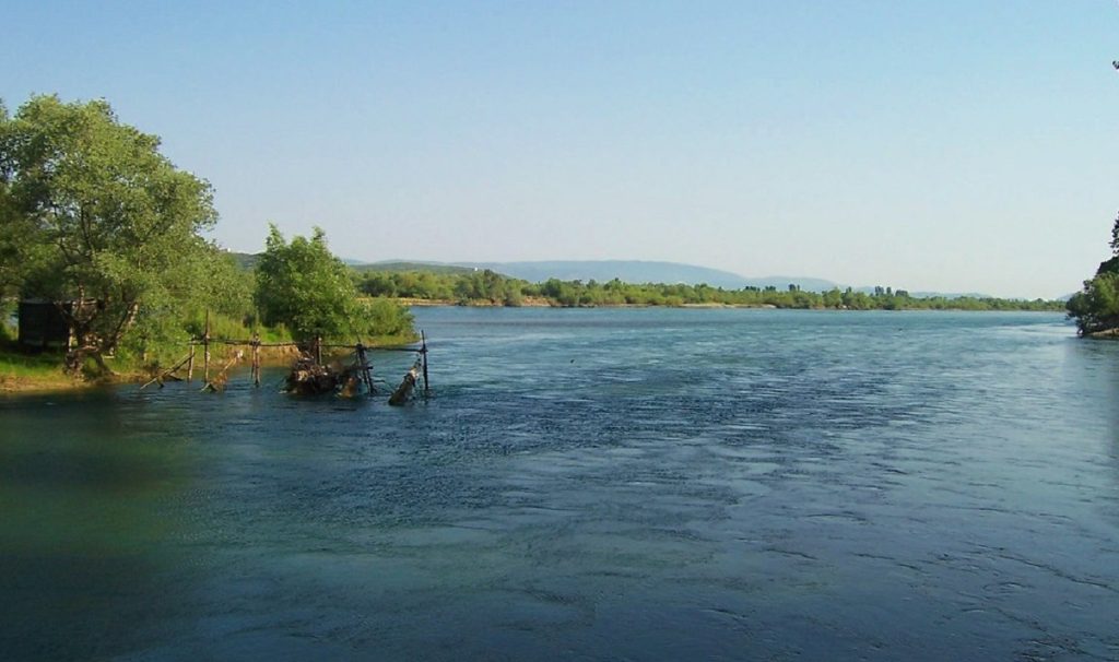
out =
<svg viewBox="0 0 1119 662"><path fill-rule="evenodd" d="M262 268L239 268L205 236L217 223L209 182L159 146L105 101L34 96L13 114L0 104L0 301L56 305L73 332L68 372L158 368L186 353L207 318L211 337L411 339L405 311L357 303L321 230L288 245L273 228ZM300 272L310 275L284 281ZM292 305L281 310L284 296ZM0 365L26 367L10 358L9 316Z"/></svg>

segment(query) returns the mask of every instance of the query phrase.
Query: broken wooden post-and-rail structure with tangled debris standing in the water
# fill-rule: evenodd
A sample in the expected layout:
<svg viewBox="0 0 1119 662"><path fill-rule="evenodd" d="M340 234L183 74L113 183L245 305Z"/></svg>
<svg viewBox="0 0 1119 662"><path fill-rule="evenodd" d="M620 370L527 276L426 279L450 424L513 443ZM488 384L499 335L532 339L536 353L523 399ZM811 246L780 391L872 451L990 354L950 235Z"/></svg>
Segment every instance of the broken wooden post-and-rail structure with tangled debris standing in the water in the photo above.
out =
<svg viewBox="0 0 1119 662"><path fill-rule="evenodd" d="M427 337L420 332L421 344L419 348L380 348L379 351L407 351L415 352L416 360L404 375L404 379L396 387L388 404L394 406L405 405L416 397L426 399L431 395L431 384L427 379ZM236 351L233 357L222 367L214 377L210 377L210 346L224 344L234 347ZM342 397L356 397L359 395L375 396L377 388L373 378L373 363L369 361L369 350L360 341L355 344L327 344L321 338L317 338L310 347L295 342L261 342L258 334L254 334L250 340L227 340L210 338L209 314L206 315L206 327L203 335L190 341L190 352L171 368L158 373L140 388L147 388L152 384L163 387L164 381L179 381L182 378L177 373L184 367L187 371L187 381L194 381L195 361L197 348L203 350L203 381L201 390L220 393L225 390L225 385L229 379L229 369L245 358L245 348L248 349L252 360L252 380L255 387L261 386L261 349L262 348L297 348L300 356L292 365L291 371L284 378L284 391L301 396L321 396L335 394ZM352 350L351 360L330 361L322 360L323 350ZM422 381L422 388L421 388Z"/></svg>

